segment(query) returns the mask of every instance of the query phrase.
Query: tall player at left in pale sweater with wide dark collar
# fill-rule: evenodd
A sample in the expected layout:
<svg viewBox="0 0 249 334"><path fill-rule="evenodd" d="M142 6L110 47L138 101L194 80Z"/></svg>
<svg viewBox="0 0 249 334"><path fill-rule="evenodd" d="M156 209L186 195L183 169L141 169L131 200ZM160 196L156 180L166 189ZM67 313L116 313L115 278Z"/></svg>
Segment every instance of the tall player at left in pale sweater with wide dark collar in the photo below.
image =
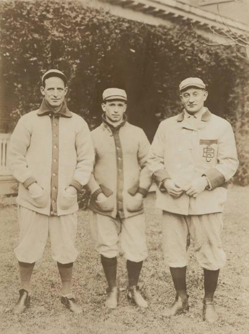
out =
<svg viewBox="0 0 249 334"><path fill-rule="evenodd" d="M13 311L21 313L30 305L31 274L49 235L62 281L61 302L80 313L71 291L78 255L77 190L90 178L94 150L87 123L66 105L66 76L58 70L47 71L40 90L44 97L40 108L19 119L9 145L9 166L19 181L20 233L14 252L21 286Z"/></svg>

